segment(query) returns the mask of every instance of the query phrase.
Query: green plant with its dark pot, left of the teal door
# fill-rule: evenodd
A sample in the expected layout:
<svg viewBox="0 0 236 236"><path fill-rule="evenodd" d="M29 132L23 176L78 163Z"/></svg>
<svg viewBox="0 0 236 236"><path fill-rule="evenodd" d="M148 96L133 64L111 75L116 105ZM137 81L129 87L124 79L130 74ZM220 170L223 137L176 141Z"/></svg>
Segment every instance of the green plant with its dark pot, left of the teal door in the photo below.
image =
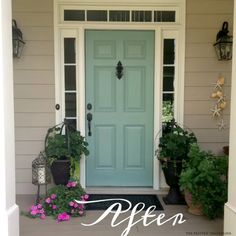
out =
<svg viewBox="0 0 236 236"><path fill-rule="evenodd" d="M83 154L89 154L87 146L85 138L67 120L48 130L45 154L55 184L65 185L70 178L79 178L79 162Z"/></svg>

